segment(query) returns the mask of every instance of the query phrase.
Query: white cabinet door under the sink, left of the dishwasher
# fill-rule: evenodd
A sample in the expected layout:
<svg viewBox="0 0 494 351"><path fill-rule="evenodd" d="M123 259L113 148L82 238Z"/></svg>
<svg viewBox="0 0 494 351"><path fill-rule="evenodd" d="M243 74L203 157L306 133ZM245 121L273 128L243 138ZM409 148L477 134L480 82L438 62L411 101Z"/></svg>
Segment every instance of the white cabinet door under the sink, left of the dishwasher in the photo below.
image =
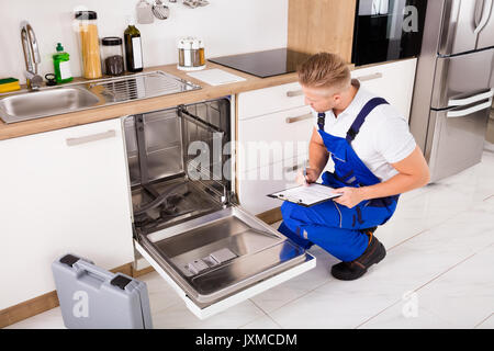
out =
<svg viewBox="0 0 494 351"><path fill-rule="evenodd" d="M55 290L74 252L112 269L133 261L120 120L0 141L0 309Z"/></svg>

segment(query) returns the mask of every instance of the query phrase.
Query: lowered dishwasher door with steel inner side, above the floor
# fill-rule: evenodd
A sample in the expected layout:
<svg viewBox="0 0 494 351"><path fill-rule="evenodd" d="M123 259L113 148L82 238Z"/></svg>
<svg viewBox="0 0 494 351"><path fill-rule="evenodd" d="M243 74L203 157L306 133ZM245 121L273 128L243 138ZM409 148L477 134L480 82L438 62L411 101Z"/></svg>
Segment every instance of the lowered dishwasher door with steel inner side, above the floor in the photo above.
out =
<svg viewBox="0 0 494 351"><path fill-rule="evenodd" d="M135 247L201 319L316 264L304 249L238 207L155 231Z"/></svg>

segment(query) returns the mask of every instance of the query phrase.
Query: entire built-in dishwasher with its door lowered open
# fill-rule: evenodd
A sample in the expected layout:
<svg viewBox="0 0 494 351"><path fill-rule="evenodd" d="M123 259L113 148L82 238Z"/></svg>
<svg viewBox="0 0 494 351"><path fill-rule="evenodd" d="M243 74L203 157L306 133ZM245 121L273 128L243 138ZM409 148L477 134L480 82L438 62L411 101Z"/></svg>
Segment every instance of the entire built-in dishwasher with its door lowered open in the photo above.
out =
<svg viewBox="0 0 494 351"><path fill-rule="evenodd" d="M135 249L200 319L315 267L242 208L231 97L123 118Z"/></svg>

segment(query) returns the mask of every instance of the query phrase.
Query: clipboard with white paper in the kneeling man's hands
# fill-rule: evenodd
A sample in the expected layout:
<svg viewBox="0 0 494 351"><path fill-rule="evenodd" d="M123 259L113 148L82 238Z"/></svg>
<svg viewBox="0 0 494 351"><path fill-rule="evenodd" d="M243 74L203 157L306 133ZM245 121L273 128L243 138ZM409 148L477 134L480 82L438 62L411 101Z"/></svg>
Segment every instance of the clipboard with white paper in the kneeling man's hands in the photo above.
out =
<svg viewBox="0 0 494 351"><path fill-rule="evenodd" d="M310 183L308 185L297 185L282 191L268 194L267 196L293 202L304 207L311 207L323 202L341 196L333 193L334 188L321 183Z"/></svg>

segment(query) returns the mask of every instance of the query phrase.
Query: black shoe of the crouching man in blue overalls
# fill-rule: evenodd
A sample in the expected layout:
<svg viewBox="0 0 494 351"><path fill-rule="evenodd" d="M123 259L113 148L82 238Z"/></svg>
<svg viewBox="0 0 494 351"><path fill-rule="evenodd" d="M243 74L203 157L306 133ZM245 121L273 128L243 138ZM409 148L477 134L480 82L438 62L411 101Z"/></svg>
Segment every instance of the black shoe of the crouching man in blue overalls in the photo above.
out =
<svg viewBox="0 0 494 351"><path fill-rule="evenodd" d="M366 233L370 237L370 242L366 251L363 251L359 258L350 262L339 262L332 267L332 274L334 278L341 281L359 279L372 264L379 263L386 256L386 249L382 242L372 235L372 231L369 230Z"/></svg>

